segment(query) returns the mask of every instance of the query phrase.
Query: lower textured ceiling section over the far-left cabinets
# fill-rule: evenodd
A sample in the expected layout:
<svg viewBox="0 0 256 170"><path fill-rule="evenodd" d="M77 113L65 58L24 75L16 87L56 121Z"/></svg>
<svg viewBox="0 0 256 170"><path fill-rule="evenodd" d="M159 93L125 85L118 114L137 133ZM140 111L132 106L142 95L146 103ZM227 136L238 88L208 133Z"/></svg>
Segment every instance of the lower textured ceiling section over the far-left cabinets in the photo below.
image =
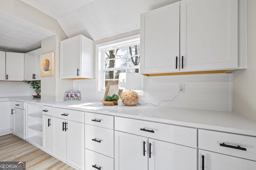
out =
<svg viewBox="0 0 256 170"><path fill-rule="evenodd" d="M28 52L41 47L41 40L54 35L41 27L0 11L0 49Z"/></svg>

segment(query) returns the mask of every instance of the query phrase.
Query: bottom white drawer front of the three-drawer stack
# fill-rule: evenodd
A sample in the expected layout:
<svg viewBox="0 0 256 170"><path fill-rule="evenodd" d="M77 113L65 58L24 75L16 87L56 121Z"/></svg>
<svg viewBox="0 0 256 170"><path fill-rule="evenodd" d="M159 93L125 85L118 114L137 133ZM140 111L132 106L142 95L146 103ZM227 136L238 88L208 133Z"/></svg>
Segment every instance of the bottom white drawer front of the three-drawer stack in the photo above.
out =
<svg viewBox="0 0 256 170"><path fill-rule="evenodd" d="M101 167L102 170L114 170L114 159L85 149L85 169L96 170L93 166Z"/></svg>

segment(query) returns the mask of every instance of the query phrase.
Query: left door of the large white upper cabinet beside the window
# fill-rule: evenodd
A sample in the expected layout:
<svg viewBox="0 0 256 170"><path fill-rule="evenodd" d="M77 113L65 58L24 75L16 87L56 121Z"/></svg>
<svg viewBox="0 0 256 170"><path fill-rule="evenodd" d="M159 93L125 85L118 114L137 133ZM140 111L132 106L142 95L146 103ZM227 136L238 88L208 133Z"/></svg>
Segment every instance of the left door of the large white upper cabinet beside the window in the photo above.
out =
<svg viewBox="0 0 256 170"><path fill-rule="evenodd" d="M179 71L180 2L141 15L140 72Z"/></svg>

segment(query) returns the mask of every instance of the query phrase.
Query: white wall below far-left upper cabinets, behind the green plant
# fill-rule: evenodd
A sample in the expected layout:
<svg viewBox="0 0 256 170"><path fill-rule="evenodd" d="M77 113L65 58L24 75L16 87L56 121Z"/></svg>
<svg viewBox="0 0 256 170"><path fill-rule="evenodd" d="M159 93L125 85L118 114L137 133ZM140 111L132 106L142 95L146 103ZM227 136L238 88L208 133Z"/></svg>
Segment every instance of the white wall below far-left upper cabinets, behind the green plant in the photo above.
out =
<svg viewBox="0 0 256 170"><path fill-rule="evenodd" d="M0 81L0 98L8 96L32 96L34 90L25 82Z"/></svg>

